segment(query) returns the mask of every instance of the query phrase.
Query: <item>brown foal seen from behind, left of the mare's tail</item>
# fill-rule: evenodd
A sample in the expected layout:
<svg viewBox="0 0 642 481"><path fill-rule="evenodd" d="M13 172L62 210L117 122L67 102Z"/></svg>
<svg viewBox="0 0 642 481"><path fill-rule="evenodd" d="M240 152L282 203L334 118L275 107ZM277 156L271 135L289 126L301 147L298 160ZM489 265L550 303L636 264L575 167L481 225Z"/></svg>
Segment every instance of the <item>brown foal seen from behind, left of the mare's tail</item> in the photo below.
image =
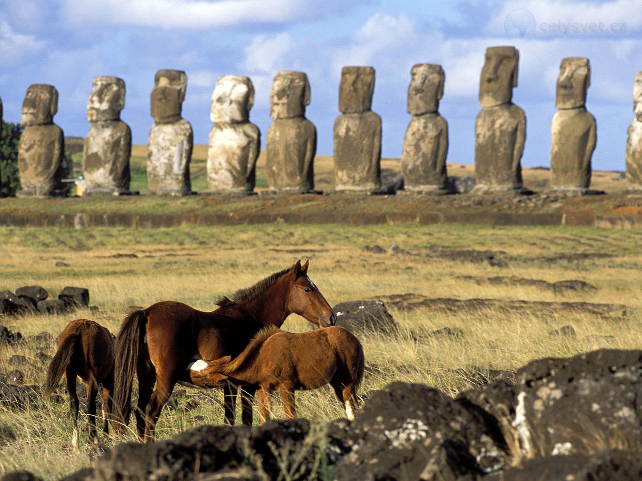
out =
<svg viewBox="0 0 642 481"><path fill-rule="evenodd" d="M78 394L76 376L87 385L87 416L89 417L89 443L98 446L96 435L96 394L98 384L103 385L102 414L105 432L108 432L107 415L111 412L114 386L114 336L100 324L89 319L76 319L64 328L58 339L58 350L51 359L44 386L48 396L65 375L69 393L69 409L74 426L71 444L78 449ZM114 426L115 428L115 426Z"/></svg>

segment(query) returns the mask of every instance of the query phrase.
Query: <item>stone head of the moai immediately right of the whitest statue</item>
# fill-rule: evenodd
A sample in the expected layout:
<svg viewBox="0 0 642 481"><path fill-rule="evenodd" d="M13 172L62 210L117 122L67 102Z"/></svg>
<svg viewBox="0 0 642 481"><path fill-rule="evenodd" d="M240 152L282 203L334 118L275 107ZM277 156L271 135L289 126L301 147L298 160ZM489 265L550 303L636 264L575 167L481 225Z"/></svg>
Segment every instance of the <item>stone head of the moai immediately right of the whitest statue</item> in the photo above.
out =
<svg viewBox="0 0 642 481"><path fill-rule="evenodd" d="M290 119L306 114L310 104L310 83L304 72L277 72L270 92L270 117Z"/></svg>

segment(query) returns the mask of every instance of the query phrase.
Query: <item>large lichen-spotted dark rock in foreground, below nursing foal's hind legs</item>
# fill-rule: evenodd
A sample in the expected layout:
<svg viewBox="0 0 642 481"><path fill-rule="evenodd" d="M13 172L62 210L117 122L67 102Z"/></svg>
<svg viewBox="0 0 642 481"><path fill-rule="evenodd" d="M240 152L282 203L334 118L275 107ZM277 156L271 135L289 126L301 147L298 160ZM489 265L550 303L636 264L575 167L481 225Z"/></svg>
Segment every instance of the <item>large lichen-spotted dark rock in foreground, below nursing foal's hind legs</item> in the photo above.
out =
<svg viewBox="0 0 642 481"><path fill-rule="evenodd" d="M503 466L503 439L485 413L422 384L394 382L352 421L356 447L338 480L454 480Z"/></svg>

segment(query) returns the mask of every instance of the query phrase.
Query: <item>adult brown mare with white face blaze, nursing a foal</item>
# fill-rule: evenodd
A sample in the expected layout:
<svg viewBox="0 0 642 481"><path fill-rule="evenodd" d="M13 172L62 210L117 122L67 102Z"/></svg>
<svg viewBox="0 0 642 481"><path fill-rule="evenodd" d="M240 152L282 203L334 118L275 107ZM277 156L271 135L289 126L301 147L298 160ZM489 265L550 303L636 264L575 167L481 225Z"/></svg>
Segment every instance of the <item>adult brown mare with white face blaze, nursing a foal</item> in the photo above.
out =
<svg viewBox="0 0 642 481"><path fill-rule="evenodd" d="M231 299L223 298L218 305L220 308L213 312L203 312L180 302L164 301L130 312L123 320L117 337L114 405L119 421L126 426L137 374L135 417L142 441L153 440L160 410L177 382L191 382L187 365L193 359L236 356L261 328L279 327L291 313L318 326L334 325L336 321L332 308L308 277L308 262L301 266L298 261L249 289L237 291ZM229 383L224 387L225 419L233 424L236 387ZM243 412L243 423L252 424L251 399L245 398Z"/></svg>

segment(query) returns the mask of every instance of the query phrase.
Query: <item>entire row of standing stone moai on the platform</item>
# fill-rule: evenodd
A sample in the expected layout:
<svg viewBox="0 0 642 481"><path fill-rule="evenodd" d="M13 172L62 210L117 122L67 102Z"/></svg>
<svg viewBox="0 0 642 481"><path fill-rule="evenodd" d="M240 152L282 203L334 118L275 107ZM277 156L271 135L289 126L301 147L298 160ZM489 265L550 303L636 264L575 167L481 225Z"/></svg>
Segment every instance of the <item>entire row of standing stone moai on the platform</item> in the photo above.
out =
<svg viewBox="0 0 642 481"><path fill-rule="evenodd" d="M521 156L526 115L512 103L517 87L519 53L514 47L489 47L480 76L475 122L475 190L525 192ZM408 113L401 167L404 189L446 193L447 122L438 112L445 74L440 65L420 63L411 71ZM586 193L591 180L591 156L596 122L586 110L590 84L587 58L564 58L560 64L551 123L550 188ZM381 192L381 117L372 112L375 72L372 67L343 67L339 110L334 121L335 190ZM150 193L191 193L189 162L193 148L191 125L181 117L185 72L160 70L151 95L155 121L148 142L147 178ZM24 132L19 144L21 196L55 196L62 192L64 156L62 130L53 124L58 92L51 85L31 85L22 105ZM248 77L225 75L214 88L207 157L207 181L212 193L254 193L261 133L249 120L254 87ZM270 95L273 123L266 139L269 192L315 192L314 158L317 130L306 119L310 86L302 72L278 72ZM130 193L131 130L120 120L125 106L125 82L100 76L93 82L87 104L91 130L83 150L87 194ZM1 103L0 103L1 109ZM1 112L1 110L0 110ZM627 179L642 189L642 72L634 83L635 118L626 148Z"/></svg>

